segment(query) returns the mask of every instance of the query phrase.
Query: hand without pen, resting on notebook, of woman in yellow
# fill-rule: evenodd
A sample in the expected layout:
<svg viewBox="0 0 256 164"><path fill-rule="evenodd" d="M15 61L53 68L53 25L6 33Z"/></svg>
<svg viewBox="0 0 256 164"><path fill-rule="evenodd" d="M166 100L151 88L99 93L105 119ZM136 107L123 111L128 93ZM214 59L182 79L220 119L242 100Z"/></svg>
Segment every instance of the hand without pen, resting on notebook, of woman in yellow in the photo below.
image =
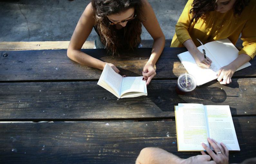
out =
<svg viewBox="0 0 256 164"><path fill-rule="evenodd" d="M220 82L220 84L229 84L232 82L231 77L233 76L234 72L236 71L236 67L232 64L226 65L218 71L217 80Z"/></svg>

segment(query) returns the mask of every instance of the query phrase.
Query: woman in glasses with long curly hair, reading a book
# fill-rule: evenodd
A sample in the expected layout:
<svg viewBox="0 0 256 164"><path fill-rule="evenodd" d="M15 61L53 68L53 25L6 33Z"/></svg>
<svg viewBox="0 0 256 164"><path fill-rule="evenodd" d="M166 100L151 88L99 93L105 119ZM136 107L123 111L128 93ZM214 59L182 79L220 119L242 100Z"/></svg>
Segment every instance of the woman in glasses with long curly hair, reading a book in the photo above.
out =
<svg viewBox="0 0 256 164"><path fill-rule="evenodd" d="M154 66L163 51L165 36L157 22L156 15L147 0L92 0L81 15L67 50L70 59L89 67L103 69L107 64L81 51L83 43L94 28L98 36L96 48L106 48L112 54L140 47L142 24L154 39L149 60L143 68L143 79L150 80L156 75ZM120 73L118 68L109 63Z"/></svg>

